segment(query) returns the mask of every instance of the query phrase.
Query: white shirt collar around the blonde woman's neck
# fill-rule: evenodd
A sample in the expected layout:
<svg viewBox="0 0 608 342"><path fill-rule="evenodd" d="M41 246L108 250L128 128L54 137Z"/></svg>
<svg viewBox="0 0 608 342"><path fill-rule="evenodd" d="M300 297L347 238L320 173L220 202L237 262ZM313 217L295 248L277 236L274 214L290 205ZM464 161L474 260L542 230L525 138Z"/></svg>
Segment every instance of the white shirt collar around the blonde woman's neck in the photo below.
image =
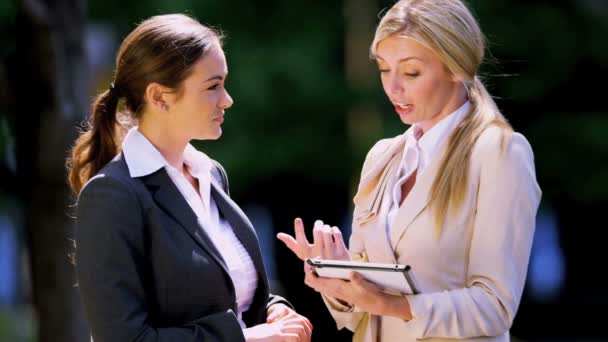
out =
<svg viewBox="0 0 608 342"><path fill-rule="evenodd" d="M416 124L412 126L408 140L410 140L411 143L418 145L425 161L428 162L435 157L439 147L443 145L456 126L464 119L464 116L468 113L470 107L471 103L466 101L460 108L441 119L441 121L436 123L422 136L420 128ZM406 148L408 145L412 146L412 144L406 144Z"/></svg>

